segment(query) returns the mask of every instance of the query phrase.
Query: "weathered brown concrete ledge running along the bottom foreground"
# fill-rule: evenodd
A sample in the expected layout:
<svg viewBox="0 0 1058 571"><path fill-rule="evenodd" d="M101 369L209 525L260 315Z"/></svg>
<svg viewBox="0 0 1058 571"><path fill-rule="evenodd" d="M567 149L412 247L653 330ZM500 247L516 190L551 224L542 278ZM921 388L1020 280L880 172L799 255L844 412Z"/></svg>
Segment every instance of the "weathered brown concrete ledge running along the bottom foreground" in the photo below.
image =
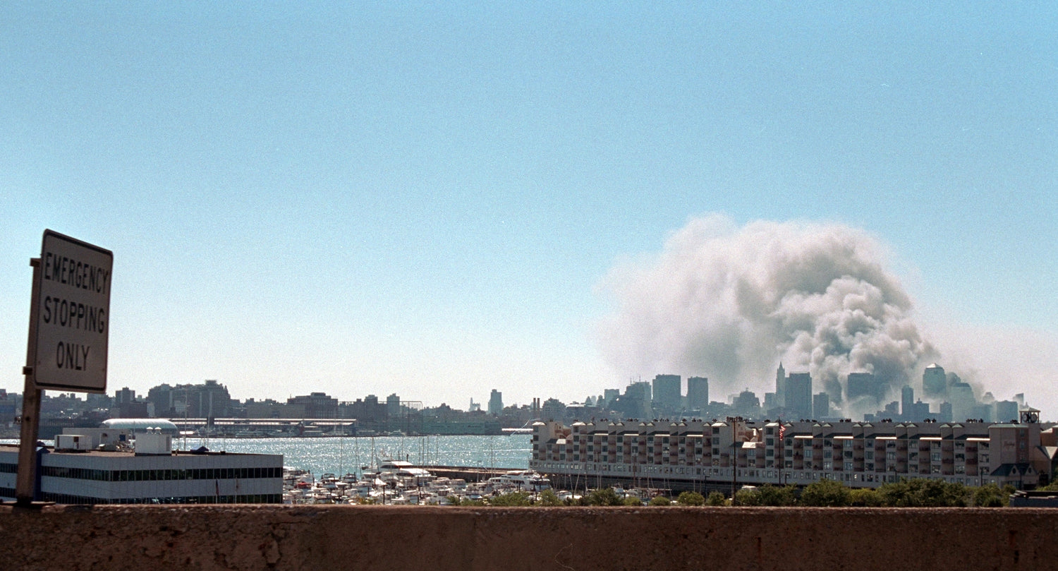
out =
<svg viewBox="0 0 1058 571"><path fill-rule="evenodd" d="M1046 569L1058 510L0 507L6 570Z"/></svg>

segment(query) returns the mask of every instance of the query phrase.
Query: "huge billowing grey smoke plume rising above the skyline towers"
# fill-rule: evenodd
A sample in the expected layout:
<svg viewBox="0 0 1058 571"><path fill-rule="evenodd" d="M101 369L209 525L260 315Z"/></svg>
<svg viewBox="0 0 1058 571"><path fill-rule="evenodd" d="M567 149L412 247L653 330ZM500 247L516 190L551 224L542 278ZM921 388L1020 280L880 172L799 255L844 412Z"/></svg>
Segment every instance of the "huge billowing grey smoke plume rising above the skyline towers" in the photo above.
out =
<svg viewBox="0 0 1058 571"><path fill-rule="evenodd" d="M937 357L883 247L846 226L693 219L661 253L618 265L604 288L616 306L601 327L609 362L646 378L708 376L714 400L773 391L782 361L861 412L842 398L849 373L874 373L892 397L920 386Z"/></svg>

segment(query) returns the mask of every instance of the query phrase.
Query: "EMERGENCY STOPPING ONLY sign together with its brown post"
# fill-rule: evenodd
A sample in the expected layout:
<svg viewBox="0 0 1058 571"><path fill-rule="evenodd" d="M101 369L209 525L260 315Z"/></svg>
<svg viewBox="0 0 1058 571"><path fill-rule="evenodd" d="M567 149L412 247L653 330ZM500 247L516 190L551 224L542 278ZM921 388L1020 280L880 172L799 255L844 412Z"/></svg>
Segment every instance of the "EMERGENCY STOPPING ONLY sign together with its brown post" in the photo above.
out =
<svg viewBox="0 0 1058 571"><path fill-rule="evenodd" d="M105 393L114 254L44 230L33 266L15 497L33 503L44 389Z"/></svg>

